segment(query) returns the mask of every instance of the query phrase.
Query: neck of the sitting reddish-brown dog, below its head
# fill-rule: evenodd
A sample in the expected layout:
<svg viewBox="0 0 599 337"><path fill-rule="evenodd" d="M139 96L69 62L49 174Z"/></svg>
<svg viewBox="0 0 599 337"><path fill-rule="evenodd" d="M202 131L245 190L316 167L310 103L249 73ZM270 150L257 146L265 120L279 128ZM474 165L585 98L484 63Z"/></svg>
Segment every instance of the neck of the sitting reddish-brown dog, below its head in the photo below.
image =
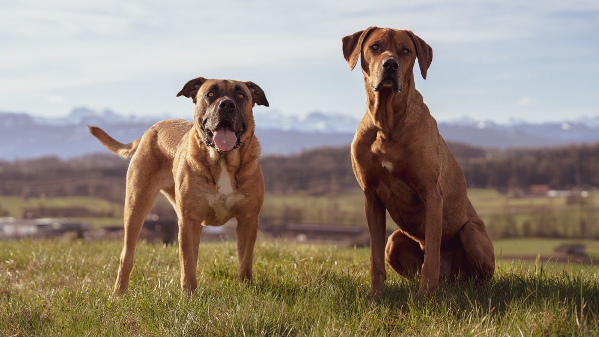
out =
<svg viewBox="0 0 599 337"><path fill-rule="evenodd" d="M368 80L364 81L367 97L367 113L373 125L383 131L392 130L404 121L408 113L408 100L415 89L414 77L403 83L401 92L395 94L391 88L374 91Z"/></svg>

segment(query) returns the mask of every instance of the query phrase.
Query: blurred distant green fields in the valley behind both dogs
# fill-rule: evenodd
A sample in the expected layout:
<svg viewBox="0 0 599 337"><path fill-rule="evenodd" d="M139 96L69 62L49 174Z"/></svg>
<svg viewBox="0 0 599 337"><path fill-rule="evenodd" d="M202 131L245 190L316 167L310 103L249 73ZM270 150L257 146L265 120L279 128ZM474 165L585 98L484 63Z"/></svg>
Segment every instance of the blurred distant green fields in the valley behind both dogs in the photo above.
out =
<svg viewBox="0 0 599 337"><path fill-rule="evenodd" d="M567 204L564 197L507 197L494 189L468 189L474 207L494 237L553 236L599 238L599 191L588 203ZM170 205L159 197L162 209ZM28 198L0 196L0 214L21 216L26 207L87 207L93 212L111 212L107 218L85 218L93 225L122 224L120 203L99 198ZM265 195L262 221L272 223L365 225L364 195L358 189L335 195ZM397 228L387 216L387 227Z"/></svg>

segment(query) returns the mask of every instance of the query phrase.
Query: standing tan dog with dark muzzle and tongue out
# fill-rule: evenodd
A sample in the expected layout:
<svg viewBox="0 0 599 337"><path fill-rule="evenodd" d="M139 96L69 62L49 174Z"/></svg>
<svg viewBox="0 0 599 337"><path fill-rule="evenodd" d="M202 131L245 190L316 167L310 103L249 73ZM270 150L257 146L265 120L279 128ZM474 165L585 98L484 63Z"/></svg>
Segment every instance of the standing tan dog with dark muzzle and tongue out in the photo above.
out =
<svg viewBox="0 0 599 337"><path fill-rule="evenodd" d="M237 219L239 278L252 280L258 213L264 178L258 163L252 107L268 106L264 91L252 82L190 80L177 96L193 99L193 122L169 119L143 137L122 144L97 127L89 130L114 154L132 157L127 171L125 246L120 255L115 292L125 291L141 225L158 192L179 217L181 288L197 287L199 236L204 226Z"/></svg>

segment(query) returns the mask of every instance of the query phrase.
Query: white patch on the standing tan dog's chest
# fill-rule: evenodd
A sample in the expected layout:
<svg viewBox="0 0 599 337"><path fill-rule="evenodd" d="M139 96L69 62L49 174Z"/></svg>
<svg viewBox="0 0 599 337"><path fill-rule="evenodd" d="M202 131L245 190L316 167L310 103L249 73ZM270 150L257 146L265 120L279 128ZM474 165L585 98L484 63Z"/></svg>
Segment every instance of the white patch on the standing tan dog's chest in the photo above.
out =
<svg viewBox="0 0 599 337"><path fill-rule="evenodd" d="M242 197L241 193L235 189L234 181L226 170L224 162L220 163L220 174L215 187L216 191L204 194L208 207L213 210L213 216L208 216L204 225L222 225L231 219L232 209Z"/></svg>

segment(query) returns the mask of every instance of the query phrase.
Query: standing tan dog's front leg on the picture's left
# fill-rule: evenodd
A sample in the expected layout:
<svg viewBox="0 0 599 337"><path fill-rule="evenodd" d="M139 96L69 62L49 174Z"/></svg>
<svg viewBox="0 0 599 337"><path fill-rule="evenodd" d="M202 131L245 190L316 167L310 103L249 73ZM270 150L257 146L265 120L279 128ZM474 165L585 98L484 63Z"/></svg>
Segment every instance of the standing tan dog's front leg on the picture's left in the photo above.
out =
<svg viewBox="0 0 599 337"><path fill-rule="evenodd" d="M179 220L179 263L181 264L181 289L186 295L198 287L196 269L198 266L199 237L202 234L199 221Z"/></svg>

